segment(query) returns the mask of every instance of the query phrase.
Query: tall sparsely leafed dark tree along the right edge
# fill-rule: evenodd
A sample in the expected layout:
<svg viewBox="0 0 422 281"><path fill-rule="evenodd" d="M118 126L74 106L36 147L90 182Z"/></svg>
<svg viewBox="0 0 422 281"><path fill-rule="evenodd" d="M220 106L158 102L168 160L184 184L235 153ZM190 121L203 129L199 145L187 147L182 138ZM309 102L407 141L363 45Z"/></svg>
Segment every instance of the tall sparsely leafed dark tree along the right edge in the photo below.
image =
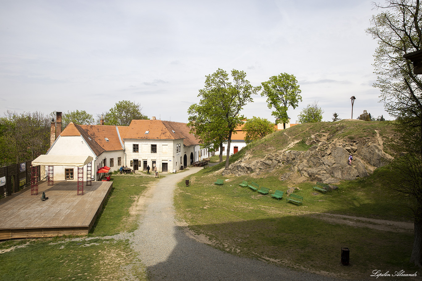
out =
<svg viewBox="0 0 422 281"><path fill-rule="evenodd" d="M385 110L400 132L398 153L390 167L398 191L414 198L414 244L410 262L422 267L422 80L413 73L405 54L421 48L422 12L419 0L388 0L373 16L367 32L378 41L375 52L375 87L381 90ZM387 181L386 181L387 182ZM392 182L387 187L394 188Z"/></svg>

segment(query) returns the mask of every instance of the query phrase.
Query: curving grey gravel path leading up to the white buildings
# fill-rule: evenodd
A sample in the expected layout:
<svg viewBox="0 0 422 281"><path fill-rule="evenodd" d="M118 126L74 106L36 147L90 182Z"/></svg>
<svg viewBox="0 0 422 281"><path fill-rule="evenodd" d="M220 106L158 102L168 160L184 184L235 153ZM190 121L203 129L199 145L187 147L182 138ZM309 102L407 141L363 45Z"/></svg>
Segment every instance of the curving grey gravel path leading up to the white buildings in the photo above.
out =
<svg viewBox="0 0 422 281"><path fill-rule="evenodd" d="M130 241L151 281L335 280L236 257L189 238L176 226L173 194L177 182L199 169L168 174L146 191L140 225Z"/></svg>

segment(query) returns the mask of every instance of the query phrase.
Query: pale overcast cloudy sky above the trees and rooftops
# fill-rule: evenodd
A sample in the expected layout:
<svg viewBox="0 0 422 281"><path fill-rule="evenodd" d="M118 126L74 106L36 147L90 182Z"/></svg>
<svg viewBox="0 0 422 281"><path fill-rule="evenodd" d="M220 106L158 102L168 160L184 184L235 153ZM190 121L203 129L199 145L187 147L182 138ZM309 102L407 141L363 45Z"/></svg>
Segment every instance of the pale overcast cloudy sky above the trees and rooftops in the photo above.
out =
<svg viewBox="0 0 422 281"><path fill-rule="evenodd" d="M140 103L157 119L187 122L205 76L246 72L253 86L296 76L303 102L351 118L388 118L373 88L370 0L5 0L0 9L0 115ZM274 120L265 97L243 114Z"/></svg>

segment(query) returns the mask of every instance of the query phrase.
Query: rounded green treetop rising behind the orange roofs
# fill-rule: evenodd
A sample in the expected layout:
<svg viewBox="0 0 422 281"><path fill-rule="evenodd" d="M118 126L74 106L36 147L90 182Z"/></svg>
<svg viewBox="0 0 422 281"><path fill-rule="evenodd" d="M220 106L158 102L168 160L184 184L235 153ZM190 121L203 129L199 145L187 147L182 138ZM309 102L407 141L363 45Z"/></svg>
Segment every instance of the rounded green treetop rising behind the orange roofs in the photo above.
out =
<svg viewBox="0 0 422 281"><path fill-rule="evenodd" d="M120 101L111 108L104 116L104 125L129 126L130 122L140 119L148 119L143 115L141 104L130 101Z"/></svg>

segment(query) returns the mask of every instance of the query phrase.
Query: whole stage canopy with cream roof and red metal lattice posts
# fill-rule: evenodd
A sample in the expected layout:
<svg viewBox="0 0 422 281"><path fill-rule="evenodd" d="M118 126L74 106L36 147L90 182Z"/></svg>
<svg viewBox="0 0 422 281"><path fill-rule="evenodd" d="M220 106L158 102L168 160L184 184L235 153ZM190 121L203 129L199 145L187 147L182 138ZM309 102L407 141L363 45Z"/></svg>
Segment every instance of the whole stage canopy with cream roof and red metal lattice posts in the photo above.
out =
<svg viewBox="0 0 422 281"><path fill-rule="evenodd" d="M87 185L92 183L92 156L87 155L40 155L32 161L31 168L31 195L38 195L38 165L48 166L48 185L54 185L54 166L76 166L78 167L78 195L84 194L84 166L87 165Z"/></svg>

